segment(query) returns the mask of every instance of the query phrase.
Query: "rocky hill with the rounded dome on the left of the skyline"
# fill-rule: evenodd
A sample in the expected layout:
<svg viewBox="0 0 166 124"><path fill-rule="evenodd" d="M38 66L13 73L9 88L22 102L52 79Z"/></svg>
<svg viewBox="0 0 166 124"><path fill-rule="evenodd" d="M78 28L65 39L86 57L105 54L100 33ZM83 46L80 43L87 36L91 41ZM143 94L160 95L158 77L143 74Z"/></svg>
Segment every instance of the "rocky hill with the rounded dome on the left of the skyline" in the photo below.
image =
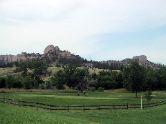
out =
<svg viewBox="0 0 166 124"><path fill-rule="evenodd" d="M0 55L0 67L8 67L13 63L31 61L32 59L44 59L49 64L81 64L85 62L78 55L62 51L58 46L49 45L44 49L43 54L22 52L18 55Z"/></svg>

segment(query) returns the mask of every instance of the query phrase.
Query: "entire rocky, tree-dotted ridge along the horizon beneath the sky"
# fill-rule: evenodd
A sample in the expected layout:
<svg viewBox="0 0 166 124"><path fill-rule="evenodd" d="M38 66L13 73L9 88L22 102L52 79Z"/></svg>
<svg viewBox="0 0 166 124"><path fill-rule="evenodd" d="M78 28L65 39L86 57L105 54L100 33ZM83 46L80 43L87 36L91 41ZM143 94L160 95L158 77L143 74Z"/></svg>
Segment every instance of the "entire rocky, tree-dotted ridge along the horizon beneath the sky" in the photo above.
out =
<svg viewBox="0 0 166 124"><path fill-rule="evenodd" d="M108 61L87 61L79 55L74 55L69 51L62 51L58 46L48 45L44 49L43 54L39 53L26 53L22 52L18 55L0 55L0 67L13 66L16 62L31 61L32 59L43 59L48 64L53 66L61 66L65 64L97 67L100 69L114 69L119 70L124 66L129 65L132 61L137 61L140 65L145 67L160 68L161 64L155 64L147 60L145 55L134 56L133 58L124 59L121 61L108 60Z"/></svg>

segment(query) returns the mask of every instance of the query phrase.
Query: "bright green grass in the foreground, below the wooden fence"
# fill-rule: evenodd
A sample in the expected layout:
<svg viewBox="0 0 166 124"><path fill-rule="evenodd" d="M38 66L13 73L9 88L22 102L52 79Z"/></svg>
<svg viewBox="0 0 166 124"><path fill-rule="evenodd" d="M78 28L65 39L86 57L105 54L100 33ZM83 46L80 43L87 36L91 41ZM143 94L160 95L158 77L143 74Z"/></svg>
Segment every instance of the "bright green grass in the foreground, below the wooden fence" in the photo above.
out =
<svg viewBox="0 0 166 124"><path fill-rule="evenodd" d="M54 111L0 103L0 124L165 124L166 105L146 110Z"/></svg>

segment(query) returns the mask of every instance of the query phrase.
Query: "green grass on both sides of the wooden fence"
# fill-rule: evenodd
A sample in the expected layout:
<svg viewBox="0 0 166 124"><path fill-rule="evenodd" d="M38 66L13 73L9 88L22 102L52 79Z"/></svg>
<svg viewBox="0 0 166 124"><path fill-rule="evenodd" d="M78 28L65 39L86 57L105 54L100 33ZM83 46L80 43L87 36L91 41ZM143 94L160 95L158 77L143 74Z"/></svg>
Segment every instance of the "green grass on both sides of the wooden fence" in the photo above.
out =
<svg viewBox="0 0 166 124"><path fill-rule="evenodd" d="M139 96L144 93L140 93ZM88 92L77 96L69 91L6 91L0 97L10 97L49 104L121 104L140 103L135 94L119 91ZM163 100L166 92L153 92L153 100ZM146 100L144 99L144 102ZM165 124L166 105L144 110L48 111L0 103L0 124Z"/></svg>

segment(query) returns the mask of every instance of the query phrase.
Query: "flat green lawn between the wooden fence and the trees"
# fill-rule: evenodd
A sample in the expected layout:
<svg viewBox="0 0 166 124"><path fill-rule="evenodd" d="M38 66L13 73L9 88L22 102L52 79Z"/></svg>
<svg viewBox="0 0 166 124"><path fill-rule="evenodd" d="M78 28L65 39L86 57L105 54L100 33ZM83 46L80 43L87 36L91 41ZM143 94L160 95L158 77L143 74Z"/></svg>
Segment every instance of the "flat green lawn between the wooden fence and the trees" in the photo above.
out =
<svg viewBox="0 0 166 124"><path fill-rule="evenodd" d="M36 92L8 92L0 93L0 97L14 98L17 100L26 100L34 102L42 102L53 105L110 105L110 104L132 104L140 103L140 95L135 98L134 93L128 92L87 92L86 96L77 96L76 92L65 91L36 91ZM153 101L160 101L166 98L165 92L154 92ZM146 99L143 99L146 103Z"/></svg>

